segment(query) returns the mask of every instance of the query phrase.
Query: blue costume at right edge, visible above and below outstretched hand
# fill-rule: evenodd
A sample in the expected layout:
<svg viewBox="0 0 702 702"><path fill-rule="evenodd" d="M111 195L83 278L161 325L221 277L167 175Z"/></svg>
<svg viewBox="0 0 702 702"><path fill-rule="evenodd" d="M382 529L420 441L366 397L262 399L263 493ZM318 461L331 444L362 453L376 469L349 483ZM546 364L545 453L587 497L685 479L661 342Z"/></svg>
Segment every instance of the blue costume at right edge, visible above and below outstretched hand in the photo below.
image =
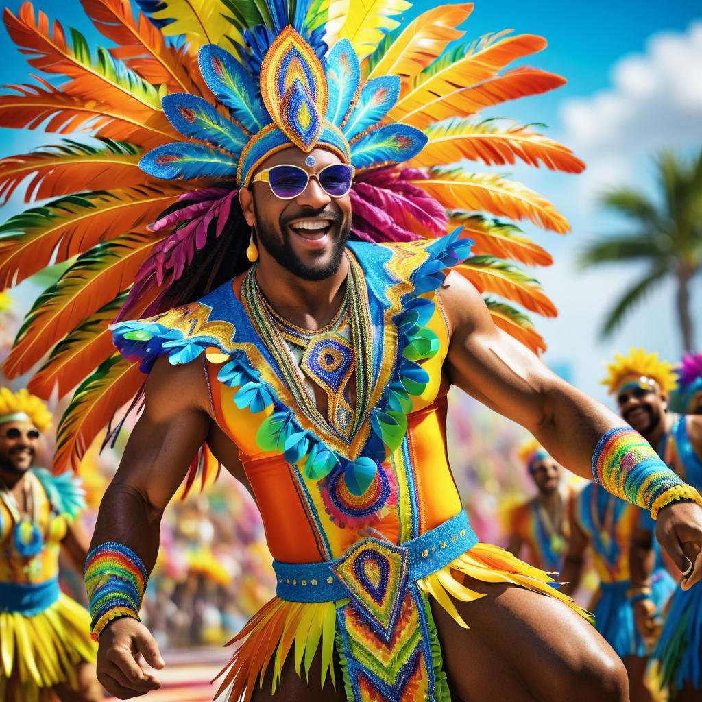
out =
<svg viewBox="0 0 702 702"><path fill-rule="evenodd" d="M687 418L675 416L670 433L663 437L658 451L663 461L673 465L673 457L684 468L689 484L702 487L702 460L692 446L687 433ZM680 586L670 600L661 638L654 652L661 685L671 694L684 684L702 689L702 593L694 587Z"/></svg>

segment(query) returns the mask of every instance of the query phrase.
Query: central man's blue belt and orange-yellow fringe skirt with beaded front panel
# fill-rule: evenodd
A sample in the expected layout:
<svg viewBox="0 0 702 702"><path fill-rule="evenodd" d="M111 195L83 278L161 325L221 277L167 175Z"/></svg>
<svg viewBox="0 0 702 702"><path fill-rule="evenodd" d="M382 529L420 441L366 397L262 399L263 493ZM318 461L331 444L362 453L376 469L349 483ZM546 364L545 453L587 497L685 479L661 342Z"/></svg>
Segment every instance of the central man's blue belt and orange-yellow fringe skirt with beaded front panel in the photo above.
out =
<svg viewBox="0 0 702 702"><path fill-rule="evenodd" d="M501 548L478 543L465 512L401 546L364 538L335 561L273 565L277 597L230 642L239 647L220 673L218 695L231 686L230 702L249 701L269 669L274 692L291 652L298 675L303 665L308 675L319 651L322 686L327 676L336 686L336 654L350 702L450 701L429 597L467 627L453 600L470 602L483 595L466 588L463 576L541 592L587 616L550 586L548 574Z"/></svg>

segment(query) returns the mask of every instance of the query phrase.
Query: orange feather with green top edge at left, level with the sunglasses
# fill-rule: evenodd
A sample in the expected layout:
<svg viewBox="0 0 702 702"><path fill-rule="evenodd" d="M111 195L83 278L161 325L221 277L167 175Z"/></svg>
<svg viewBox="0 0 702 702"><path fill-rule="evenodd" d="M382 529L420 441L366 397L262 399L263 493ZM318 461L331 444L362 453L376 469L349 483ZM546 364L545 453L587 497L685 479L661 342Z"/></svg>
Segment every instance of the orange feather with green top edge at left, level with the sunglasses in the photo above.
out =
<svg viewBox="0 0 702 702"><path fill-rule="evenodd" d="M25 202L67 195L90 183L95 190L114 183L122 187L145 180L139 170L139 150L127 142L100 139L102 147L72 140L41 147L32 154L0 160L0 201L5 202L27 178Z"/></svg>

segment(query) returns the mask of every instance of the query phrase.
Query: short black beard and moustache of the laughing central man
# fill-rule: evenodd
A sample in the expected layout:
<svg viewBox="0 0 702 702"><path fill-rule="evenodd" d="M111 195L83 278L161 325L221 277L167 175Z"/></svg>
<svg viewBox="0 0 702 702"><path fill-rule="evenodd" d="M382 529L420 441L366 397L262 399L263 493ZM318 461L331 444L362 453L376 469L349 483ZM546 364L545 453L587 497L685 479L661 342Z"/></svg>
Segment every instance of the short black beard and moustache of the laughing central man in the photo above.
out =
<svg viewBox="0 0 702 702"><path fill-rule="evenodd" d="M322 214L322 212L310 214L310 218L317 217L320 214ZM351 234L351 224L350 222L345 223L343 217L336 212L324 211L324 216L329 217L338 225L339 235L338 238L332 241L333 248L329 263L322 267L312 267L303 263L303 261L298 258L290 243L290 237L286 233L286 223L287 220L298 219L299 216L287 218L287 220L281 219L279 222L279 231L283 232L281 240L277 232L272 232L265 227L258 216L258 211L256 211L256 236L258 238L258 243L263 246L282 267L289 270L298 278L302 278L303 280L325 280L339 270L339 266L343 260L346 242Z"/></svg>

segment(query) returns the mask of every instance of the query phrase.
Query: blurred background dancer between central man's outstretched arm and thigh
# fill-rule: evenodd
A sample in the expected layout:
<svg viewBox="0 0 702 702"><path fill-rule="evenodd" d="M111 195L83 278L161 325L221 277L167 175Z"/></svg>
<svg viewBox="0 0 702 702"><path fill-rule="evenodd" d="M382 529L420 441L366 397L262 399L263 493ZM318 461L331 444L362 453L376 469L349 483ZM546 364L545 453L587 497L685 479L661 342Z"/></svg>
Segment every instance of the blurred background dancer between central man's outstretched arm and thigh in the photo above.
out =
<svg viewBox="0 0 702 702"><path fill-rule="evenodd" d="M518 556L526 548L527 563L547 573L560 573L569 536L562 468L534 439L519 449L519 458L529 470L537 494L512 511L507 550Z"/></svg>

